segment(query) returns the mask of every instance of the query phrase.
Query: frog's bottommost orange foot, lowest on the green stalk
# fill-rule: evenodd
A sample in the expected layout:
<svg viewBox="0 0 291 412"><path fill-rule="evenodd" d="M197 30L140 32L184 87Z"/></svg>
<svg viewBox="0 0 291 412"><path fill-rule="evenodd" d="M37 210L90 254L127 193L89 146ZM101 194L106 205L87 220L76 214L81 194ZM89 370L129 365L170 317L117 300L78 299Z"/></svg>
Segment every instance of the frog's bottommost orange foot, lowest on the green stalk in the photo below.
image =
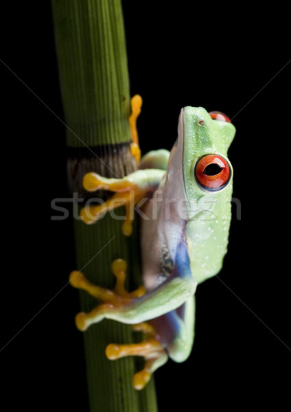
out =
<svg viewBox="0 0 291 412"><path fill-rule="evenodd" d="M144 339L140 343L130 343L128 345L117 345L110 343L106 347L106 356L111 361L124 358L124 356L143 356L145 365L143 369L133 376L132 384L135 389L143 389L153 372L167 362L167 353L161 343L156 339L156 334L152 326L146 322L132 325L132 329L141 331Z"/></svg>

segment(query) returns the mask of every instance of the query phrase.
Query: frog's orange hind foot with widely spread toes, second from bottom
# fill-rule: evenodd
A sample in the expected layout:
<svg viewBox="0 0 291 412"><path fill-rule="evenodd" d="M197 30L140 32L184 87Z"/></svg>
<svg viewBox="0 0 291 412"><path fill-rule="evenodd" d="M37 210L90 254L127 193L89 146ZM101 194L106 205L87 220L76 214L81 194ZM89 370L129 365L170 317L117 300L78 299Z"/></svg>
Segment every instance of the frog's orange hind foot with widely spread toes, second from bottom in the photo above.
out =
<svg viewBox="0 0 291 412"><path fill-rule="evenodd" d="M114 290L95 286L84 277L79 271L71 272L69 282L74 288L86 290L91 296L103 302L97 305L91 312L80 312L75 317L75 324L79 330L86 330L92 323L102 321L108 312L122 310L130 305L132 299L141 297L146 293L146 289L140 286L137 290L128 293L124 288L126 279L126 261L116 259L112 264L113 273L117 279Z"/></svg>

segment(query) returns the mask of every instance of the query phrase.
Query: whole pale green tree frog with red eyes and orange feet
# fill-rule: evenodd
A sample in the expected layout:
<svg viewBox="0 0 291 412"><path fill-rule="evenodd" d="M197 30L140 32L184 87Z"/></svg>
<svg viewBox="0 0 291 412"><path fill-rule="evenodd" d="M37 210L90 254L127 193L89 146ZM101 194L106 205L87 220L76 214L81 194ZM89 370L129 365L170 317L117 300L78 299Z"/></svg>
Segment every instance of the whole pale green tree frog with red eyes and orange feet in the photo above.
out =
<svg viewBox="0 0 291 412"><path fill-rule="evenodd" d="M137 159L135 119L140 106L141 98L132 98L132 154ZM145 358L144 369L133 378L136 389L146 385L168 356L183 362L191 352L196 287L220 271L228 243L233 169L227 150L234 135L235 127L226 115L187 106L181 110L171 152L149 152L141 158L139 169L123 179L106 179L94 172L84 176L86 190L116 192L103 205L82 209L82 220L88 224L104 211L124 205L123 231L130 236L132 206L148 198L141 218L143 286L132 293L125 290L126 262L121 259L112 265L117 278L114 290L91 284L78 271L70 275L74 287L103 302L76 316L80 330L107 318L144 332L141 343L112 343L106 348L110 359Z"/></svg>

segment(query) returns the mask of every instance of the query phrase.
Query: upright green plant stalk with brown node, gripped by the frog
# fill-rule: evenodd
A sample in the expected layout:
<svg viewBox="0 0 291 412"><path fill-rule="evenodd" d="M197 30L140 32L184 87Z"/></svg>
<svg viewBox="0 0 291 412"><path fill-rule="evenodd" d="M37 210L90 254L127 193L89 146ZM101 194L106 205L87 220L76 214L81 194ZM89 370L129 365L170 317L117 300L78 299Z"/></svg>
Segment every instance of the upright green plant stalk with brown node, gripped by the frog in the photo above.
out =
<svg viewBox="0 0 291 412"><path fill-rule="evenodd" d="M69 184L72 193L86 200L88 194L82 190L86 172L122 177L136 168L130 155L130 93L121 2L51 3L67 124ZM77 268L94 284L113 288L110 264L115 258L127 260L130 288L141 284L137 228L131 238L125 238L121 223L109 215L95 225L74 222ZM80 292L82 311L89 312L96 304L93 297ZM104 320L84 332L91 412L157 411L153 379L146 389L135 391L135 360L108 361L105 356L108 343L133 339L130 326L115 321Z"/></svg>

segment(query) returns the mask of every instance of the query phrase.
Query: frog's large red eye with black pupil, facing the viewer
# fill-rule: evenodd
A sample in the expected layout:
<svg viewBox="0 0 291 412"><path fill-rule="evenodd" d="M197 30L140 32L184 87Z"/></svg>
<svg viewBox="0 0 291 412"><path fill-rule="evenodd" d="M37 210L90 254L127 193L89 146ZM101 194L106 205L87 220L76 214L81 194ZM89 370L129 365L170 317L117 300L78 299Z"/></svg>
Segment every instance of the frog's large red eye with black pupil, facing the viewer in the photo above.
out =
<svg viewBox="0 0 291 412"><path fill-rule="evenodd" d="M195 177L205 190L222 190L231 179L231 168L224 157L205 155L196 163Z"/></svg>

